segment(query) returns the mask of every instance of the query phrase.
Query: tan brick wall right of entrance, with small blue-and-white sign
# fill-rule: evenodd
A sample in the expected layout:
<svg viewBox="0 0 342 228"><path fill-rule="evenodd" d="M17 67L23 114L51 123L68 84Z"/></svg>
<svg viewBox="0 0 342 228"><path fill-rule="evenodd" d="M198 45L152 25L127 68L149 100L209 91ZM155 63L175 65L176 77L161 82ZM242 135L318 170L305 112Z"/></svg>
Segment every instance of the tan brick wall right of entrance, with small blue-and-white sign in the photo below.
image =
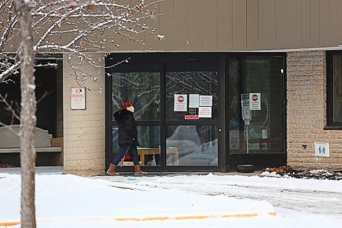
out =
<svg viewBox="0 0 342 228"><path fill-rule="evenodd" d="M342 168L342 131L324 130L326 103L326 51L287 53L289 166ZM316 157L314 142L328 142L330 157Z"/></svg>

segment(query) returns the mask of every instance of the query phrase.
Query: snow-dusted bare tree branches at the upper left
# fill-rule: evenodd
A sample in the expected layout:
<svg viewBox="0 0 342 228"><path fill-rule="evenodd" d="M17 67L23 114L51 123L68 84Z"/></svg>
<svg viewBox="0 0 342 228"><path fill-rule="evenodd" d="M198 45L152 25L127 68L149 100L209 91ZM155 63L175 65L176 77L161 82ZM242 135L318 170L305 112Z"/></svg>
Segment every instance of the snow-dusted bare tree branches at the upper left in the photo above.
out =
<svg viewBox="0 0 342 228"><path fill-rule="evenodd" d="M28 0L27 0L28 1ZM143 40L137 34L149 31L148 20L156 20L162 0L32 0L34 54L73 53L96 67L101 67L88 53L109 53L120 47L122 38ZM129 3L129 4L127 4ZM0 83L18 73L18 16L14 0L0 2ZM156 35L159 40L162 35ZM77 67L75 67L77 68Z"/></svg>

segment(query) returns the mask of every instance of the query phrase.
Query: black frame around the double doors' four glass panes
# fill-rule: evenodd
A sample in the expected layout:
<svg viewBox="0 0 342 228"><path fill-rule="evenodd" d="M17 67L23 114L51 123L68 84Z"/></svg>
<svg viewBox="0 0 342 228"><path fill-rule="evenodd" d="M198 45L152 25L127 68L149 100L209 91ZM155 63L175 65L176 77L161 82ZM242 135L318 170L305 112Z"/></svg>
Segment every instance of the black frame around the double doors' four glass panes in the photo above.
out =
<svg viewBox="0 0 342 228"><path fill-rule="evenodd" d="M112 66L116 62L129 59L128 64L116 66L116 68L106 68L106 74L110 74L105 79L105 168L111 162L112 136L111 129L116 125L112 121L111 110L111 72L130 72L131 66L140 64L139 71L153 69L153 66L160 66L160 89L161 89L161 119L160 121L137 121L137 125L158 125L161 126L161 157L160 166L144 166L148 172L182 172L182 171L226 171L226 149L225 149L225 115L224 115L224 53L115 53L108 55L106 66ZM223 64L222 64L223 63ZM223 67L222 67L223 66ZM166 121L166 72L168 69L182 71L203 71L208 68L215 68L218 71L218 120L217 121ZM131 71L134 72L134 71ZM181 123L181 124L180 124ZM166 166L166 126L167 125L218 125L221 129L218 134L218 166ZM132 167L118 167L118 172L131 173Z"/></svg>

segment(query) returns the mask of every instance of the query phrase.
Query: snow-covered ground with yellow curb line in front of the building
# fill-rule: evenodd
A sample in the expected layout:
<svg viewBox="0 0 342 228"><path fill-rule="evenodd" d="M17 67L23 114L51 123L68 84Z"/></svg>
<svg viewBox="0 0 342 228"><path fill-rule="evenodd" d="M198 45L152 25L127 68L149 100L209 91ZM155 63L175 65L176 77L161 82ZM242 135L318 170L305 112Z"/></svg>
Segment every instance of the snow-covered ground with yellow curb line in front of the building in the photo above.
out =
<svg viewBox="0 0 342 228"><path fill-rule="evenodd" d="M37 173L38 228L342 227L342 181L213 174L78 177L41 167ZM0 227L20 227L20 181L18 168L0 168Z"/></svg>

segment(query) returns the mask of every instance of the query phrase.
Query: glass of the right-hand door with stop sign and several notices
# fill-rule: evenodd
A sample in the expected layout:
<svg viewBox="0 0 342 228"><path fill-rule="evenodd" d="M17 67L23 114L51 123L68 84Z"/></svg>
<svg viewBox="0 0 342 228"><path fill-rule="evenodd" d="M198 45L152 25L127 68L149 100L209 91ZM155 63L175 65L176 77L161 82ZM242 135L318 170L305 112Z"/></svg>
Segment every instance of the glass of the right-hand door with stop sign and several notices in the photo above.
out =
<svg viewBox="0 0 342 228"><path fill-rule="evenodd" d="M166 166L218 166L218 71L166 72Z"/></svg>

